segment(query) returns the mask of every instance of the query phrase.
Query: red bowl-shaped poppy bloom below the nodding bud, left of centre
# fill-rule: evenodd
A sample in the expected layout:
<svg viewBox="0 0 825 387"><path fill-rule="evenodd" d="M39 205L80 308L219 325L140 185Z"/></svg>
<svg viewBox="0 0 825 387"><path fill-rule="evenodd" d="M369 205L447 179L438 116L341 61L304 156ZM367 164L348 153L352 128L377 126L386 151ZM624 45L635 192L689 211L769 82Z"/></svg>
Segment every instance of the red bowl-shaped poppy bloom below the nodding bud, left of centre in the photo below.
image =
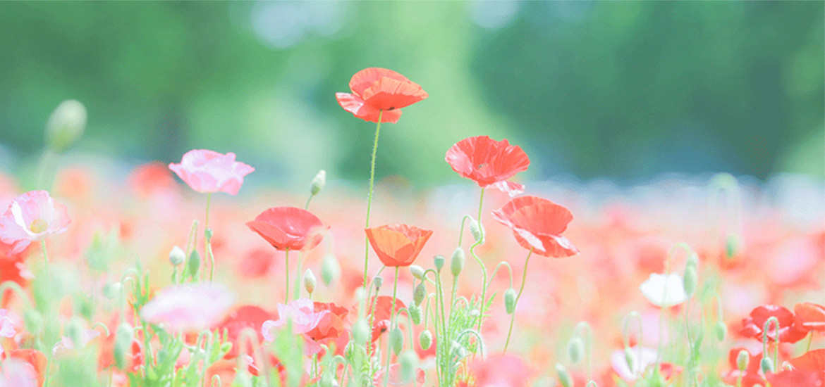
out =
<svg viewBox="0 0 825 387"><path fill-rule="evenodd" d="M279 250L312 249L323 240L323 226L312 212L296 207L273 207L247 221L247 226Z"/></svg>

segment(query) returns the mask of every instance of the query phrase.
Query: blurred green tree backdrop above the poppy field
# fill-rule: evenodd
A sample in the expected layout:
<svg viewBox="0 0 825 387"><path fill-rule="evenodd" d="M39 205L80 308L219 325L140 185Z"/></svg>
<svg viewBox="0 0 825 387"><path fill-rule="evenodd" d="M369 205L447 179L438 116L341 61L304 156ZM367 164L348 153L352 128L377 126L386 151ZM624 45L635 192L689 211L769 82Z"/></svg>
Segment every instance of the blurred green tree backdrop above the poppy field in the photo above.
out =
<svg viewBox="0 0 825 387"><path fill-rule="evenodd" d="M334 98L361 68L430 93L382 131L379 177L455 181L488 134L527 179L825 174L823 2L3 2L0 160L34 163L61 100L75 153L235 152L266 184L363 180L374 124ZM27 164L28 163L28 164ZM256 184L256 183L252 183ZM258 183L260 184L260 183Z"/></svg>

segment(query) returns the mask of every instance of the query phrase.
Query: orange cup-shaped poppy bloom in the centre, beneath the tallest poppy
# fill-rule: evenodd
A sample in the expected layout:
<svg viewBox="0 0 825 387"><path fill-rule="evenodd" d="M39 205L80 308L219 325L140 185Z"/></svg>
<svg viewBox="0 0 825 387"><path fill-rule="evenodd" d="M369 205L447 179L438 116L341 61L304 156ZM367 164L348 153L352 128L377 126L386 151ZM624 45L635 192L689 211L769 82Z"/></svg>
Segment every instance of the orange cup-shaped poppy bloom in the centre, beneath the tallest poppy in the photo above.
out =
<svg viewBox="0 0 825 387"><path fill-rule="evenodd" d="M413 264L432 231L403 224L364 229L372 249L384 266L397 268Z"/></svg>

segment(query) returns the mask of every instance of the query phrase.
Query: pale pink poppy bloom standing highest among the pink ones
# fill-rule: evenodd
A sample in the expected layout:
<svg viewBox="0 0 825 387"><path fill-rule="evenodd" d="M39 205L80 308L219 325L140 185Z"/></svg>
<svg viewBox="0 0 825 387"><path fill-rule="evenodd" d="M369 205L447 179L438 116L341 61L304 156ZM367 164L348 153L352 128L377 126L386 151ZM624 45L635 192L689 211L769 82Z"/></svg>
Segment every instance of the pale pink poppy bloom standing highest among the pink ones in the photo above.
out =
<svg viewBox="0 0 825 387"><path fill-rule="evenodd" d="M235 161L235 154L222 154L206 149L193 149L183 155L180 164L169 164L191 189L200 193L225 192L238 194L243 176L255 168Z"/></svg>

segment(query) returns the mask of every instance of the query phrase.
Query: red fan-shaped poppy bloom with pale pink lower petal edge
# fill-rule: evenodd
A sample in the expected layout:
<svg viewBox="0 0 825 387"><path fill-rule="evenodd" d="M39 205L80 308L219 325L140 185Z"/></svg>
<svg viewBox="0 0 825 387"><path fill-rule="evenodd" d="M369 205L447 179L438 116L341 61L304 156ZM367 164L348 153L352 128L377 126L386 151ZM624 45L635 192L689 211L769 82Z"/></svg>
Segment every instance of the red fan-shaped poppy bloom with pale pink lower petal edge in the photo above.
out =
<svg viewBox="0 0 825 387"><path fill-rule="evenodd" d="M527 170L530 158L506 138L502 141L487 136L464 138L450 147L444 159L459 175L475 181L481 188L493 185L511 197L524 192L524 185L507 179Z"/></svg>

